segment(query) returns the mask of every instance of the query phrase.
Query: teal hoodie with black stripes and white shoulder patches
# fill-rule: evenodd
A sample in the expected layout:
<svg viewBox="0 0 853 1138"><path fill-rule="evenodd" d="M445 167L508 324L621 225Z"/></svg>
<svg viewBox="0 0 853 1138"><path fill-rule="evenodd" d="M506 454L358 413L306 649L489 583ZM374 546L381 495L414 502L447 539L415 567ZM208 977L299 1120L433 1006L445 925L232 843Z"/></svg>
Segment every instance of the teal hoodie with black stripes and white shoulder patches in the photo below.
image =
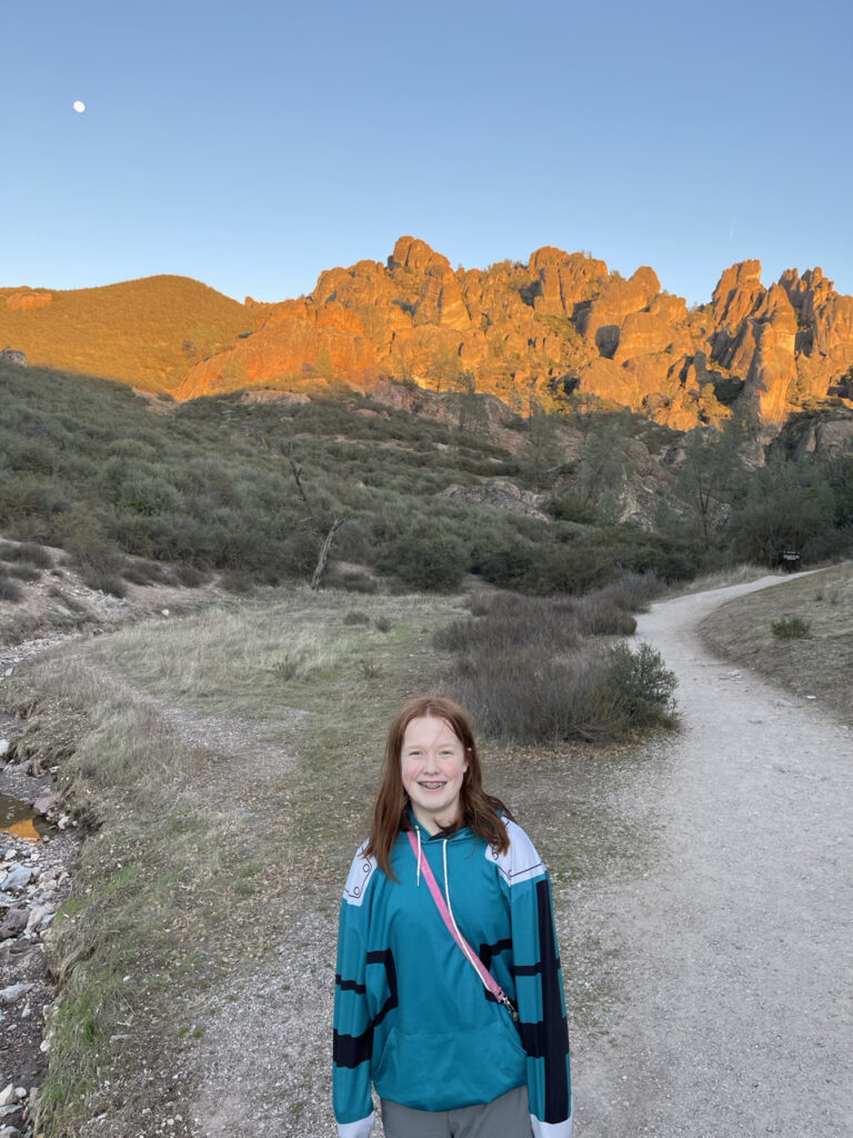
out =
<svg viewBox="0 0 853 1138"><path fill-rule="evenodd" d="M500 855L466 827L431 836L413 824L462 935L517 1005L519 1023L450 937L408 836L391 850L397 881L359 849L338 940L339 1135L370 1135L372 1081L381 1098L421 1111L489 1103L527 1085L536 1138L569 1138L569 1037L545 865L513 822Z"/></svg>

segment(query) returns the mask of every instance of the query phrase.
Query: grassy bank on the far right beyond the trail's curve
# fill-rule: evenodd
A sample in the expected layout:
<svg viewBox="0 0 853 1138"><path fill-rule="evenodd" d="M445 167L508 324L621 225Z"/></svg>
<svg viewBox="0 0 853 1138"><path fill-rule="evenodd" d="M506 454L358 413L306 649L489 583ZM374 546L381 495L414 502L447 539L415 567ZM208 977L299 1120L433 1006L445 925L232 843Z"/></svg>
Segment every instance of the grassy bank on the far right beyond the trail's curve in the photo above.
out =
<svg viewBox="0 0 853 1138"><path fill-rule="evenodd" d="M809 635L781 640L773 624L798 618ZM717 609L699 628L719 655L770 676L796 695L817 695L853 720L853 564L794 577Z"/></svg>

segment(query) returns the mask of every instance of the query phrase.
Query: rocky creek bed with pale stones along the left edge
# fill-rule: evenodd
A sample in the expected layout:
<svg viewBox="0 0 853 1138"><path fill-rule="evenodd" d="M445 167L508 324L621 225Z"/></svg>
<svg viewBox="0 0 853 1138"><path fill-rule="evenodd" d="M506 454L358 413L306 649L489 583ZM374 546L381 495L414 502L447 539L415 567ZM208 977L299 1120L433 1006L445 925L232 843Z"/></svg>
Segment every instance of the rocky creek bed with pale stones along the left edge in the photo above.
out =
<svg viewBox="0 0 853 1138"><path fill-rule="evenodd" d="M42 552L52 561L50 568L39 579L20 583L18 602L0 605L0 682L23 661L74 637L151 616L168 619L220 595L215 586L190 591L129 583L127 595L116 597L90 588L61 550L43 546ZM43 934L69 891L80 846L74 823L51 791L50 773L34 778L23 765L6 765L9 740L22 726L0 715L0 795L30 803L45 833L35 842L32 824L0 828L0 1138L33 1132L33 1107L48 1063L45 1020L55 999Z"/></svg>

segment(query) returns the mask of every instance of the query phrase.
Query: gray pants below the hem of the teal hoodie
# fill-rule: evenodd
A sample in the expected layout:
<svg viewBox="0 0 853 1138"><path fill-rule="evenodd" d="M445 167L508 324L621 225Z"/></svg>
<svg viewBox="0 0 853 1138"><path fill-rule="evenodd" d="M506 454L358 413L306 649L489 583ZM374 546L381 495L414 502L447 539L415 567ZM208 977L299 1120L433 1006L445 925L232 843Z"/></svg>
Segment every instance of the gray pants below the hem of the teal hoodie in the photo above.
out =
<svg viewBox="0 0 853 1138"><path fill-rule="evenodd" d="M388 1098L382 1103L386 1138L530 1138L527 1087L479 1106L456 1111L414 1111Z"/></svg>

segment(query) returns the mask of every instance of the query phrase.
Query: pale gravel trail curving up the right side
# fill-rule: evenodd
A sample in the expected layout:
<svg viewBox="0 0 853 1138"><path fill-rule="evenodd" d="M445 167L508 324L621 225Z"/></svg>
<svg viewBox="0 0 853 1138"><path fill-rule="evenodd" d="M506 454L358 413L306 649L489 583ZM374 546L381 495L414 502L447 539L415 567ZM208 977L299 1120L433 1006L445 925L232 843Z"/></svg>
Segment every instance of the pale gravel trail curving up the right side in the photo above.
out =
<svg viewBox="0 0 853 1138"><path fill-rule="evenodd" d="M596 929L615 973L606 1029L573 1041L583 1138L853 1132L852 733L693 632L778 583L639 621L678 675L682 731L613 790L647 819L654 855L569 915Z"/></svg>

